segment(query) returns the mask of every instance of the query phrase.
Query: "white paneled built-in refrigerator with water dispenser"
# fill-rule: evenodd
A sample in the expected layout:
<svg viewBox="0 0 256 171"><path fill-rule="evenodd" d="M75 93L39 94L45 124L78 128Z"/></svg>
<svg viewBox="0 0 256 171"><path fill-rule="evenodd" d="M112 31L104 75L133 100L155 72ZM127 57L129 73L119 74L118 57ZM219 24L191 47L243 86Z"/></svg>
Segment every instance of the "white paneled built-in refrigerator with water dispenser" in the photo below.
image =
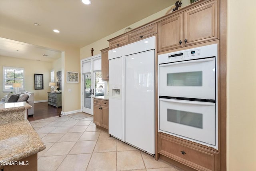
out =
<svg viewBox="0 0 256 171"><path fill-rule="evenodd" d="M109 133L150 154L155 154L154 49L151 37L109 51Z"/></svg>

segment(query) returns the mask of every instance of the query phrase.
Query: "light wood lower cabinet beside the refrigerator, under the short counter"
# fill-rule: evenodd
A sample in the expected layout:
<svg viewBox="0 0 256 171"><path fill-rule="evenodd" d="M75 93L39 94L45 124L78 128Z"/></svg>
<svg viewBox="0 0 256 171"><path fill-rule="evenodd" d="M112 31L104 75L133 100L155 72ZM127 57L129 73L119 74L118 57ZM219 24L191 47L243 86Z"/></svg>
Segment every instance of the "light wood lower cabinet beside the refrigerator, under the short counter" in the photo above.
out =
<svg viewBox="0 0 256 171"><path fill-rule="evenodd" d="M93 123L108 129L108 100L94 99Z"/></svg>

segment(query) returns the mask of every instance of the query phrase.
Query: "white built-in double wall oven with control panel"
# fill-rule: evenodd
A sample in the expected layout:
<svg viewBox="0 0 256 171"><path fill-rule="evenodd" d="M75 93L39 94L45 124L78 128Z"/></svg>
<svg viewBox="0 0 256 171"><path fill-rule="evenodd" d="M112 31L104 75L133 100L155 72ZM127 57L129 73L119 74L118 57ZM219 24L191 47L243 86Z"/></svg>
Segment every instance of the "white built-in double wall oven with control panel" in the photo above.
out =
<svg viewBox="0 0 256 171"><path fill-rule="evenodd" d="M158 55L158 131L218 149L218 44Z"/></svg>

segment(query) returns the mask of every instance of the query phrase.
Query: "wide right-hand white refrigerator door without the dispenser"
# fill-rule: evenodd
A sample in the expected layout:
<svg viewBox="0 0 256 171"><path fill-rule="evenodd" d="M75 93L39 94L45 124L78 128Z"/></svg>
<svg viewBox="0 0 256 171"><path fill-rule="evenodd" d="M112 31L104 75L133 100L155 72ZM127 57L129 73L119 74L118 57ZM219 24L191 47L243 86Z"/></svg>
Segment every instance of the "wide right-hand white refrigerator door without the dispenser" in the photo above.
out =
<svg viewBox="0 0 256 171"><path fill-rule="evenodd" d="M155 154L155 51L125 56L124 141Z"/></svg>

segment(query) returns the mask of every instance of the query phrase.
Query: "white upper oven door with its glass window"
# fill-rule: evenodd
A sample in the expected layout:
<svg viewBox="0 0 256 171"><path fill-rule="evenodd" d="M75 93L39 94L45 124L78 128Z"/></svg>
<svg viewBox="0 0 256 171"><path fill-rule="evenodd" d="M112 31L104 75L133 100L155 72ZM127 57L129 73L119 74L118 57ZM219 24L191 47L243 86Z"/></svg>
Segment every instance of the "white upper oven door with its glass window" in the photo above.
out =
<svg viewBox="0 0 256 171"><path fill-rule="evenodd" d="M215 100L215 57L160 64L159 95Z"/></svg>

